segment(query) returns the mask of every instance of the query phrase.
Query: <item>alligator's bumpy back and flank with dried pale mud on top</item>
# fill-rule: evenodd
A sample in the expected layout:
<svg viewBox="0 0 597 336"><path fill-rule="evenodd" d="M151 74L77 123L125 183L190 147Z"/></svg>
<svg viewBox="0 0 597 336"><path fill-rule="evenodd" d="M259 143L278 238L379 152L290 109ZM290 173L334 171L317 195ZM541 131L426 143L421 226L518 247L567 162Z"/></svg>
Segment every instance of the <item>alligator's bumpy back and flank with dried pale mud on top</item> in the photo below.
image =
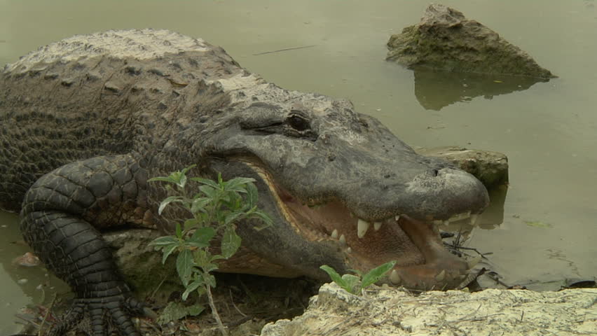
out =
<svg viewBox="0 0 597 336"><path fill-rule="evenodd" d="M156 155L190 119L226 104L210 78L243 71L221 48L151 29L74 36L5 66L0 209L19 211L34 181L69 162Z"/></svg>

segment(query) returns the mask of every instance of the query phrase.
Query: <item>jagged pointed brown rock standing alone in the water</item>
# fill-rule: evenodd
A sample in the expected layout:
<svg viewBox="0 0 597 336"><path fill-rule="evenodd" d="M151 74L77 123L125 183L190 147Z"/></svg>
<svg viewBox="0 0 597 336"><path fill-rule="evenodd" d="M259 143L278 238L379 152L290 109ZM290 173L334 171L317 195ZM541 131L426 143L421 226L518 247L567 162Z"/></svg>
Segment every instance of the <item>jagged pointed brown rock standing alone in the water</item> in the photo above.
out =
<svg viewBox="0 0 597 336"><path fill-rule="evenodd" d="M556 77L495 31L440 4L431 4L418 24L392 35L387 48L387 60L411 69Z"/></svg>

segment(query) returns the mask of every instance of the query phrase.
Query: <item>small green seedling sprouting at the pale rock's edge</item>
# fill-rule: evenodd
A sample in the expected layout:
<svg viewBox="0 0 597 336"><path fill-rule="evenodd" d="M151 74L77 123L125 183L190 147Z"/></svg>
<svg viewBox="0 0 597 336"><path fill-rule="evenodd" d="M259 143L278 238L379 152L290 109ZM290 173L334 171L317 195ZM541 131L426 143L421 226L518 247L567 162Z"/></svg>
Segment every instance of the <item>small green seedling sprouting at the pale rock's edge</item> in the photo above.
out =
<svg viewBox="0 0 597 336"><path fill-rule="evenodd" d="M363 274L361 271L357 269L350 269L350 272L355 274L344 274L341 276L336 272L336 269L329 267L328 265L320 266L327 274L332 281L338 284L346 290L348 293L357 294L362 293L364 288L371 286L373 283L376 283L379 279L382 278L387 272L392 269L396 265L395 261L386 262L383 265L375 267L371 269L369 272Z"/></svg>

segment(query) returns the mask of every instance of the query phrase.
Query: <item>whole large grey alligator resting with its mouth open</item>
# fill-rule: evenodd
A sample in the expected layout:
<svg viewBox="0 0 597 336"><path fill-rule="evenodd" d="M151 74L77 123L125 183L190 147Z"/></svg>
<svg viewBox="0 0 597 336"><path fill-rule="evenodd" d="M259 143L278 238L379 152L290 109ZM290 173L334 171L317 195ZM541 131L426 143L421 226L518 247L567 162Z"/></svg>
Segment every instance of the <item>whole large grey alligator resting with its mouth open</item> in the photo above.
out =
<svg viewBox="0 0 597 336"><path fill-rule="evenodd" d="M488 204L474 176L416 154L346 99L284 90L224 49L167 30L105 31L51 43L0 75L0 208L76 298L49 335L89 316L139 335L135 299L102 231L153 228L165 196L151 176L252 177L265 230L238 225L222 272L327 279L397 260L392 286L454 288L469 263L435 224ZM110 322L111 321L111 322Z"/></svg>

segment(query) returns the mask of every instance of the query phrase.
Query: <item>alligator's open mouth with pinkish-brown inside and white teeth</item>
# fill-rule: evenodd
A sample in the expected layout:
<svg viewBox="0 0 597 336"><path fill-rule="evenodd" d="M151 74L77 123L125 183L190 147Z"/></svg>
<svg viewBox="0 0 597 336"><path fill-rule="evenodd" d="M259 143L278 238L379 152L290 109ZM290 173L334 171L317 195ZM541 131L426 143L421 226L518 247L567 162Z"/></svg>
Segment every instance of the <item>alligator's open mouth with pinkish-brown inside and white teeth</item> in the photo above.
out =
<svg viewBox="0 0 597 336"><path fill-rule="evenodd" d="M479 261L449 253L437 229L453 221L474 224L477 214L454 214L448 220L434 220L432 216L417 219L406 214L365 220L333 197L318 204L300 200L275 183L261 165L249 166L268 185L285 221L303 239L334 244L343 255L346 269L366 272L395 260L390 276L381 282L416 290L441 290L459 286Z"/></svg>

